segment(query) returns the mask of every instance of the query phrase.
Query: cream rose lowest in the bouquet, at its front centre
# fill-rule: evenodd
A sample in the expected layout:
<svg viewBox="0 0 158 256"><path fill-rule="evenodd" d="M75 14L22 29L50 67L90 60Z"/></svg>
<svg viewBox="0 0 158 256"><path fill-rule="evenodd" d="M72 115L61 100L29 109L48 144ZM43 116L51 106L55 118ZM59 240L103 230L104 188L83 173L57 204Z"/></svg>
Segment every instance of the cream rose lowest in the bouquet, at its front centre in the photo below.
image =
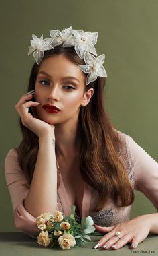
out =
<svg viewBox="0 0 158 256"><path fill-rule="evenodd" d="M74 236L71 234L64 234L58 238L58 243L63 250L70 249L70 247L74 247L76 245L76 241Z"/></svg>

